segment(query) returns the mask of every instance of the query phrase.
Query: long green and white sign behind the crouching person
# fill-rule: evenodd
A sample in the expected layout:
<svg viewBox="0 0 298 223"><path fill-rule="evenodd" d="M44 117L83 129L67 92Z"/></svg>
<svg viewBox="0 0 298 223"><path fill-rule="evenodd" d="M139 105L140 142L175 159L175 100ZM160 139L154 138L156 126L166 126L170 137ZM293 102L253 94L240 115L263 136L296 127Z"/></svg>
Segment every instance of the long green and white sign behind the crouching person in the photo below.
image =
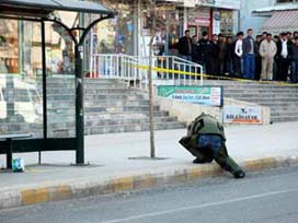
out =
<svg viewBox="0 0 298 223"><path fill-rule="evenodd" d="M158 95L171 99L215 107L222 106L221 86L158 86Z"/></svg>

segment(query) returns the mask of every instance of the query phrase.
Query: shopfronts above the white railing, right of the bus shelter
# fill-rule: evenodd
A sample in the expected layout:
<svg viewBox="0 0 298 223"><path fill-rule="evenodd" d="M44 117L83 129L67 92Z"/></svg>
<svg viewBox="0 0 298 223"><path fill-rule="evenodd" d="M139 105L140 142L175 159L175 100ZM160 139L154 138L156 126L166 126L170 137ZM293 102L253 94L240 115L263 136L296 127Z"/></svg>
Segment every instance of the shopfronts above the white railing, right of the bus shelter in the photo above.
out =
<svg viewBox="0 0 298 223"><path fill-rule="evenodd" d="M107 51L116 54L148 55L151 1L99 1L119 13L114 21L100 24L99 51L110 49ZM197 36L203 31L233 35L239 30L240 0L157 0L156 8L158 33L154 44L159 46L156 54L175 55L175 43L186 28ZM111 34L108 39L107 33Z"/></svg>

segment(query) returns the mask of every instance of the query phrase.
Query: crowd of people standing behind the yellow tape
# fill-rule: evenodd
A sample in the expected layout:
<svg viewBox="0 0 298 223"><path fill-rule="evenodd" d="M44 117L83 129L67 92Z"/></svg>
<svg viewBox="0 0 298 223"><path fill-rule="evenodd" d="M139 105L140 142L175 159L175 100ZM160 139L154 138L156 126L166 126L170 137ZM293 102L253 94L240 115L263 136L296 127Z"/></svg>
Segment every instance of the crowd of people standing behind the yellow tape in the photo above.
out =
<svg viewBox="0 0 298 223"><path fill-rule="evenodd" d="M253 30L236 37L203 32L191 37L188 30L177 43L183 59L199 63L211 75L229 75L260 81L298 83L298 32L273 36L264 32L253 37Z"/></svg>

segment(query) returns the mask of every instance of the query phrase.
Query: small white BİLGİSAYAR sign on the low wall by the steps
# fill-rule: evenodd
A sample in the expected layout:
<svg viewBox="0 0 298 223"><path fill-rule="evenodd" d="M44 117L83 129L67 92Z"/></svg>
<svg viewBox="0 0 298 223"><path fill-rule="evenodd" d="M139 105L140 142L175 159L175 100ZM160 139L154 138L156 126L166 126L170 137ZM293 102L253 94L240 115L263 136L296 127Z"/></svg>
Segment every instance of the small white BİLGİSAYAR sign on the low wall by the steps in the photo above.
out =
<svg viewBox="0 0 298 223"><path fill-rule="evenodd" d="M224 124L262 124L260 106L225 106Z"/></svg>

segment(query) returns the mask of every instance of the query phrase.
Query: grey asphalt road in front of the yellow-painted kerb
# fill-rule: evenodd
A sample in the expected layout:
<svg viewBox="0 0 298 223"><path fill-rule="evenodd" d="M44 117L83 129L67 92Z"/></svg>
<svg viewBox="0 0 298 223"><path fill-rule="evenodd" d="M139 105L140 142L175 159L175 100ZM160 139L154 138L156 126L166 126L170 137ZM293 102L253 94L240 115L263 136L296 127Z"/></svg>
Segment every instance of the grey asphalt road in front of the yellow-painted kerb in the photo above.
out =
<svg viewBox="0 0 298 223"><path fill-rule="evenodd" d="M1 223L297 223L298 167L0 211Z"/></svg>

